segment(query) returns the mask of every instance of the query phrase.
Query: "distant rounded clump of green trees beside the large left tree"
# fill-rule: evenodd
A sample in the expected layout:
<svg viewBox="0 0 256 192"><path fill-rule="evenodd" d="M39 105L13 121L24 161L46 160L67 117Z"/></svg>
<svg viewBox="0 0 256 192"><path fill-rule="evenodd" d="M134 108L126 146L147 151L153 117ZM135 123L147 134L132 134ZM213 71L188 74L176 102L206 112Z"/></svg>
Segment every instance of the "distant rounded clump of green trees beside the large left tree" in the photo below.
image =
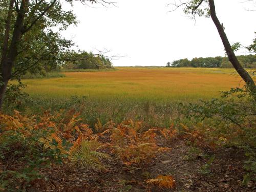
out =
<svg viewBox="0 0 256 192"><path fill-rule="evenodd" d="M93 53L72 53L62 65L63 69L108 69L113 68L109 58ZM81 59L72 59L81 58Z"/></svg>

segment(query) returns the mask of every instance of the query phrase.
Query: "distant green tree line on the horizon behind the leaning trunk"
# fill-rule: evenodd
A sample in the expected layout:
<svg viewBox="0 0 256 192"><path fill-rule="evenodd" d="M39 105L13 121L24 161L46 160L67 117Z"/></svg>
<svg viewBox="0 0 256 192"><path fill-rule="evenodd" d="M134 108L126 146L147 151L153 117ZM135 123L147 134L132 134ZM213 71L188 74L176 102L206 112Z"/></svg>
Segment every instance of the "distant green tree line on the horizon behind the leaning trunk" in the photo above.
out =
<svg viewBox="0 0 256 192"><path fill-rule="evenodd" d="M244 68L256 68L256 55L237 56ZM179 59L173 62L167 62L166 67L202 67L202 68L233 68L228 57L195 57L192 60Z"/></svg>

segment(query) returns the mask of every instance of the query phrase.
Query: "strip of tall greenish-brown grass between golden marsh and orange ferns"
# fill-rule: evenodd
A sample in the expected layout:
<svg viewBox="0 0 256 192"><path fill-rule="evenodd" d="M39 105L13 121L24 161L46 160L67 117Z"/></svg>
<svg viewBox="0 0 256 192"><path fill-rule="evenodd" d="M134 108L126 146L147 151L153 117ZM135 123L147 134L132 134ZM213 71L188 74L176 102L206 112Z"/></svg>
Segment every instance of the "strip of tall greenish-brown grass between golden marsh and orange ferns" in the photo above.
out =
<svg viewBox="0 0 256 192"><path fill-rule="evenodd" d="M14 108L24 114L54 113L59 110L75 110L83 119L81 122L94 126L97 118L102 123L113 120L117 123L125 119L141 120L145 127L167 127L180 118L178 102L159 102L144 99L95 99L73 96L69 98L29 97L23 105ZM4 108L5 114L12 114L13 109Z"/></svg>

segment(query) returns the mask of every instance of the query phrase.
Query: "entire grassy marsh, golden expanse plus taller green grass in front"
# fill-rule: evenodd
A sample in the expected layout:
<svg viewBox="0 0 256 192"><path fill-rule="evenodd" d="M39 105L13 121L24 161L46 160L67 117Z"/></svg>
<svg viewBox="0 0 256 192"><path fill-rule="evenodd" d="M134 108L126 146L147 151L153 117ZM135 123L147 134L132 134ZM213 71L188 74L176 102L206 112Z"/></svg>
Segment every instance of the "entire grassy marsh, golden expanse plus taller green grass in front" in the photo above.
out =
<svg viewBox="0 0 256 192"><path fill-rule="evenodd" d="M30 95L18 110L79 111L84 123L112 119L142 120L145 126L166 127L181 118L179 102L219 97L220 91L242 86L231 69L119 68L117 71L69 72L65 78L24 79ZM5 109L12 113L11 108Z"/></svg>

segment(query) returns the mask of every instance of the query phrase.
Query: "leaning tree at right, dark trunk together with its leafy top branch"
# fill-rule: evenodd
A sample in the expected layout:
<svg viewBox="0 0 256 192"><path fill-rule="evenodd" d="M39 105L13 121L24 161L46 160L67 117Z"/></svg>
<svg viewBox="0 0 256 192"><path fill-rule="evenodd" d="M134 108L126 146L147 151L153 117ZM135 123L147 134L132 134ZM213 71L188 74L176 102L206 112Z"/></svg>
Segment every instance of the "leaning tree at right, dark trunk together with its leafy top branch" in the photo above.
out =
<svg viewBox="0 0 256 192"><path fill-rule="evenodd" d="M211 17L212 21L214 22L218 33L221 37L221 40L223 42L223 46L226 50L226 54L228 56L229 61L232 63L232 66L238 74L242 77L242 79L246 82L248 85L250 91L255 94L256 88L255 88L255 83L249 73L242 67L241 63L239 62L238 58L234 54L234 51L232 49L232 46L230 45L227 35L225 33L225 29L223 24L220 23L217 15L216 15L216 10L215 10L215 2L214 0L190 0L187 3L181 3L179 5L177 4L171 4L176 6L176 9L181 6L185 6L183 11L186 14L192 14L192 18L196 18L196 15L198 16L206 16L206 17ZM205 5L205 6L203 6ZM175 10L176 10L175 9Z"/></svg>

